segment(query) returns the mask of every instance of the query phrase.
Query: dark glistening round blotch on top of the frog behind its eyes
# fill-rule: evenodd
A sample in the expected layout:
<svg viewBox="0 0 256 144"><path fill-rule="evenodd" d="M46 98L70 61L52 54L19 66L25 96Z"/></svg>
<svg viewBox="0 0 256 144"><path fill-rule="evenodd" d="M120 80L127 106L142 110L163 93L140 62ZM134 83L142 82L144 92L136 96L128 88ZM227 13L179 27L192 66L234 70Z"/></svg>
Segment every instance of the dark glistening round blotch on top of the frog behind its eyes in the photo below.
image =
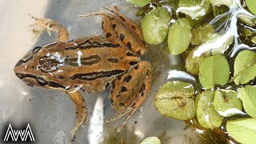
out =
<svg viewBox="0 0 256 144"><path fill-rule="evenodd" d="M42 72L53 72L58 69L60 62L54 56L43 57L39 59L40 66L38 67Z"/></svg>

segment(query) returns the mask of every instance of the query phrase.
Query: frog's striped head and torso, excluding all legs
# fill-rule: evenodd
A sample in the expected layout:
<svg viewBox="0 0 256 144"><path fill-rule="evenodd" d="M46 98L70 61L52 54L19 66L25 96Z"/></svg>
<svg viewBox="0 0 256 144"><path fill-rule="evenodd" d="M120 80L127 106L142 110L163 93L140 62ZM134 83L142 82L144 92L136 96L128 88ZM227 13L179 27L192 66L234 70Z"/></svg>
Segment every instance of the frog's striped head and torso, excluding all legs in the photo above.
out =
<svg viewBox="0 0 256 144"><path fill-rule="evenodd" d="M95 93L105 90L139 61L126 48L98 36L56 42L33 51L30 60L23 59L15 66L19 78L35 86L55 89L81 86Z"/></svg>

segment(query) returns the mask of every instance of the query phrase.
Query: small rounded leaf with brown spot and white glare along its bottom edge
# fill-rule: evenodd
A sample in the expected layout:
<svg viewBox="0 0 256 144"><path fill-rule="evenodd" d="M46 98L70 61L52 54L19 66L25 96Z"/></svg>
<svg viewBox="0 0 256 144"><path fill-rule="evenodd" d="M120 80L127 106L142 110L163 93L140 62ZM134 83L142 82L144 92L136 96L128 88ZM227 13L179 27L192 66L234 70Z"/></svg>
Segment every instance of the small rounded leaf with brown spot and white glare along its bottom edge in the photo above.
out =
<svg viewBox="0 0 256 144"><path fill-rule="evenodd" d="M218 114L230 117L241 114L242 101L238 98L238 92L234 90L216 90L214 92L214 108Z"/></svg>

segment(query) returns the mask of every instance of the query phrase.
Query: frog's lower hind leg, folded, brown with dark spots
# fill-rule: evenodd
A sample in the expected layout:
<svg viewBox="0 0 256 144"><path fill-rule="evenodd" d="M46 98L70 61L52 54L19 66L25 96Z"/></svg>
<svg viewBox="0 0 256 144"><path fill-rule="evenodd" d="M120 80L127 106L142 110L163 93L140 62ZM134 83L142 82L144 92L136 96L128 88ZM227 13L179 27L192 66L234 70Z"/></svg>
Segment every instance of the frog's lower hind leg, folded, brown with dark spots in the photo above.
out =
<svg viewBox="0 0 256 144"><path fill-rule="evenodd" d="M131 115L138 110L150 94L152 79L150 67L150 62L139 62L133 70L123 74L121 78L113 82L110 90L111 105L121 113L116 118L106 122L121 118L124 114L129 113L125 121L122 122L122 126L124 126Z"/></svg>

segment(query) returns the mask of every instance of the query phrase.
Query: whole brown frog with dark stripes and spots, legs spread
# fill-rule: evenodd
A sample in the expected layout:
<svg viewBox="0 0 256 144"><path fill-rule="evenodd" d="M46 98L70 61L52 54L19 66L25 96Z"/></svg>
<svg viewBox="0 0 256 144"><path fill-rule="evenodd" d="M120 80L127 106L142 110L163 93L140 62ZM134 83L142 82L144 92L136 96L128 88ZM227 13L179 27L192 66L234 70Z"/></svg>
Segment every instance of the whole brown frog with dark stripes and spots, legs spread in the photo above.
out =
<svg viewBox="0 0 256 144"><path fill-rule="evenodd" d="M35 46L14 66L14 74L28 86L61 90L74 102L77 122L70 131L72 140L87 120L81 90L97 94L110 87L110 103L117 116L106 122L128 114L121 127L150 94L151 64L140 58L148 50L140 26L117 11L106 10L110 13L90 14L102 15L103 36L70 41L66 26L31 16L39 28L34 31L53 31L58 38L46 46Z"/></svg>

